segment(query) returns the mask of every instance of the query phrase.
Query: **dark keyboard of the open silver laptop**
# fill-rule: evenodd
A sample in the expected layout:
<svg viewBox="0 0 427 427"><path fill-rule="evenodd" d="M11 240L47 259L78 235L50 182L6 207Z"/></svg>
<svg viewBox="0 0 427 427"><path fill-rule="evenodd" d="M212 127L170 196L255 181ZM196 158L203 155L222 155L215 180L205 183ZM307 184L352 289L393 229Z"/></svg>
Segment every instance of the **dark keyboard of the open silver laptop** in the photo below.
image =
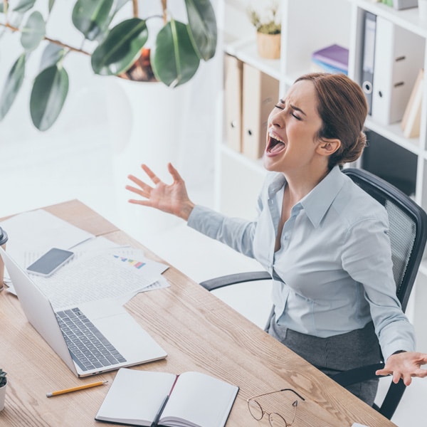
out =
<svg viewBox="0 0 427 427"><path fill-rule="evenodd" d="M56 313L71 357L83 371L126 362L125 357L78 308Z"/></svg>

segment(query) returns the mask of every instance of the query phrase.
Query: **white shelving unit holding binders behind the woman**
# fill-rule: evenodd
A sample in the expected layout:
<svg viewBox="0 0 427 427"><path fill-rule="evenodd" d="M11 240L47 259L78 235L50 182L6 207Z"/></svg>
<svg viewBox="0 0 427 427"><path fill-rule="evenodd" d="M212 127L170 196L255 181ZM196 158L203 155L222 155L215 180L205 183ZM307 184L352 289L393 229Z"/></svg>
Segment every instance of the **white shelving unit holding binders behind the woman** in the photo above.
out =
<svg viewBox="0 0 427 427"><path fill-rule="evenodd" d="M280 60L263 60L256 51L255 28L246 14L246 1L221 2L224 53L278 79L278 98L286 93L295 78L310 71L312 52L332 43L349 49L349 77L361 83L365 11L423 38L423 49L419 52L424 64L420 137L407 139L399 123L384 126L370 117L366 127L389 139L390 144L416 155L414 198L427 211L427 23L419 18L418 9L397 11L371 0L282 0L281 57ZM223 135L219 139L216 207L226 214L253 218L256 197L265 176L262 160L253 161L228 148ZM427 352L427 337L423 333L427 320L423 309L423 305L427 305L427 260L423 260L413 295L408 315L416 326L419 349Z"/></svg>

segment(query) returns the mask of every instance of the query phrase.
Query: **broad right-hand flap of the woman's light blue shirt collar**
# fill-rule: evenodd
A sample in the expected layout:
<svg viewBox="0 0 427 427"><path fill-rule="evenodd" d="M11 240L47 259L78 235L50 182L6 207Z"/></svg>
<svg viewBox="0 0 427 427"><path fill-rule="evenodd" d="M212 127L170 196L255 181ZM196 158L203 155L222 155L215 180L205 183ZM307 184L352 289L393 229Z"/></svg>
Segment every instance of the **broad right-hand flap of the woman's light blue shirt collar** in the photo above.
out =
<svg viewBox="0 0 427 427"><path fill-rule="evenodd" d="M319 226L343 184L344 174L339 166L335 166L309 194L301 199L300 204L313 226Z"/></svg>

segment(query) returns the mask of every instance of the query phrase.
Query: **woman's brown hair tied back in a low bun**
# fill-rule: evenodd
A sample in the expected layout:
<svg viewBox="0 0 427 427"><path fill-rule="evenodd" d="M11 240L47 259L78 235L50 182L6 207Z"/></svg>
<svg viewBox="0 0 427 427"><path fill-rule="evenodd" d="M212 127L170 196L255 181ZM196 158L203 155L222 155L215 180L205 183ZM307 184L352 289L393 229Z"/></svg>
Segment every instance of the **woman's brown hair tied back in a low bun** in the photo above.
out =
<svg viewBox="0 0 427 427"><path fill-rule="evenodd" d="M363 127L368 106L362 88L344 74L310 73L295 83L300 80L315 85L317 112L322 119L317 137L341 141L341 147L330 155L330 169L357 160L367 143Z"/></svg>

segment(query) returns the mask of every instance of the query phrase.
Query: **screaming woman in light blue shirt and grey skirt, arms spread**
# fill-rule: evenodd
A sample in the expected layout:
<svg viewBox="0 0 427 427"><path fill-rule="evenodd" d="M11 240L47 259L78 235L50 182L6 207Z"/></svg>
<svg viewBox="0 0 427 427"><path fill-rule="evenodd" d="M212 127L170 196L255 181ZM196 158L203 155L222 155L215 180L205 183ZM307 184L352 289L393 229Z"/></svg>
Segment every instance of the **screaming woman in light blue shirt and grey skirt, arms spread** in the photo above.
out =
<svg viewBox="0 0 427 427"><path fill-rule="evenodd" d="M308 362L333 374L386 360L377 375L406 385L427 354L414 352L413 327L396 297L388 218L340 167L366 144L367 102L345 75L298 78L268 117L263 156L269 171L258 218L228 218L191 202L184 181L164 184L147 167L127 189L152 206L188 221L201 233L257 259L273 277L274 313L268 332ZM378 380L349 386L373 404Z"/></svg>

